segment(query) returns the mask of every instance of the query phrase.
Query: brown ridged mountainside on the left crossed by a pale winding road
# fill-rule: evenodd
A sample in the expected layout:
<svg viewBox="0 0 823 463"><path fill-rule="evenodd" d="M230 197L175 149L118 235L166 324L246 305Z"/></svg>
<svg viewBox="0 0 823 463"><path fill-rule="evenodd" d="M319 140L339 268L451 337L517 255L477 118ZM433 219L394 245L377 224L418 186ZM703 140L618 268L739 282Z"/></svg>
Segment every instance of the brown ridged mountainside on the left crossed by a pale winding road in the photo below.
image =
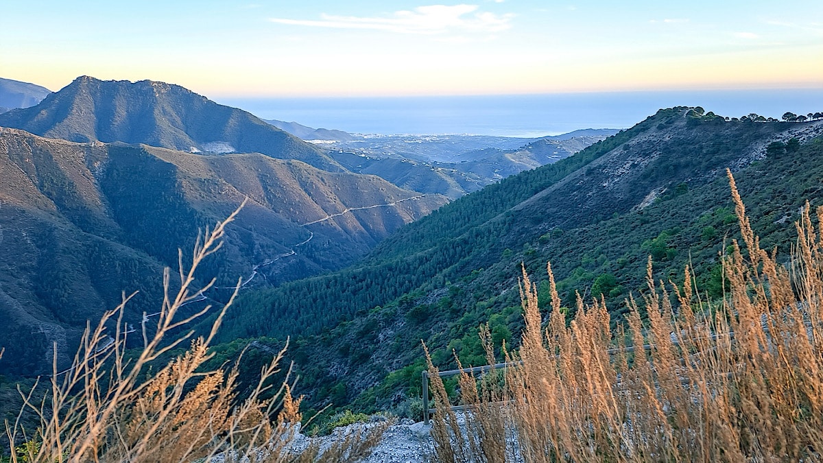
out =
<svg viewBox="0 0 823 463"><path fill-rule="evenodd" d="M2 369L60 363L86 320L139 290L127 321L160 303L198 228L249 202L202 282L247 287L339 269L445 199L370 175L321 171L261 154L202 156L146 145L71 143L0 128ZM245 290L245 289L244 289ZM207 296L219 303L226 291ZM195 306L195 305L193 305Z"/></svg>

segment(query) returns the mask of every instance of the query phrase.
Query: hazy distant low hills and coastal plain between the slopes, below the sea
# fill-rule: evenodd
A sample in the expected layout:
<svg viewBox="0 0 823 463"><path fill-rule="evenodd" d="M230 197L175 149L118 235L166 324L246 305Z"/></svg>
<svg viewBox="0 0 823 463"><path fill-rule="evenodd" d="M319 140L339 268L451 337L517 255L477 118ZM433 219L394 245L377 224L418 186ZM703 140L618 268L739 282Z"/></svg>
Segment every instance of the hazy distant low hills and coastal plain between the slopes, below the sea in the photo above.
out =
<svg viewBox="0 0 823 463"><path fill-rule="evenodd" d="M618 132L580 129L530 140L485 135L363 135L274 119L266 122L327 147L329 156L350 171L378 175L402 188L450 199L569 157Z"/></svg>

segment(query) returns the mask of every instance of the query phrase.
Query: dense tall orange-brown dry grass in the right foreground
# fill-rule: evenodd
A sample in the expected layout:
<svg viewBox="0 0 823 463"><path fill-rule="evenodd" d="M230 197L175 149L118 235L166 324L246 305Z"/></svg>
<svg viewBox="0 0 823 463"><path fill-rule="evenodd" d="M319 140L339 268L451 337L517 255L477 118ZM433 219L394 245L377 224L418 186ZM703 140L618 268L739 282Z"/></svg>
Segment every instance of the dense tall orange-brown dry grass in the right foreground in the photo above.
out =
<svg viewBox="0 0 823 463"><path fill-rule="evenodd" d="M649 260L648 291L642 302L625 302L625 328L610 328L602 299L580 298L567 326L549 265L544 324L524 272L523 344L507 354L522 364L506 369L497 395L484 395L474 378L461 381L468 431L454 431L458 420L442 406L445 391L430 365L441 404L437 459L823 460L823 208L814 227L807 204L786 268L760 249L728 176L743 241L724 259L728 297L701 299L688 268L682 287L655 283Z"/></svg>

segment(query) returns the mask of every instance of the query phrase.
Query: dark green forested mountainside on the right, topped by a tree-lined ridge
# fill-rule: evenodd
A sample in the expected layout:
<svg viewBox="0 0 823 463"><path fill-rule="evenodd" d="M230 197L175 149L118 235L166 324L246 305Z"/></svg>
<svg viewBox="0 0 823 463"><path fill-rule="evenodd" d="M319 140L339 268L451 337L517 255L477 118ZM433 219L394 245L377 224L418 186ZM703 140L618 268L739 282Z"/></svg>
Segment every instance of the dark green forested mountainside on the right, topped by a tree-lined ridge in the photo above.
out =
<svg viewBox="0 0 823 463"><path fill-rule="evenodd" d="M700 108L660 110L574 156L510 176L440 208L382 241L337 273L247 292L230 311L224 341L289 356L306 404L401 412L419 397L425 340L435 364L485 364L478 325L516 347L523 327L520 265L546 304L546 261L560 298L606 298L613 316L654 276L723 295L718 252L736 235L728 167L767 246L788 255L805 199L823 203L823 121L727 121ZM322 307L322 310L316 309ZM222 346L221 358L248 342ZM262 348L262 347L261 347ZM235 349L235 350L233 350ZM404 412L405 413L405 412Z"/></svg>

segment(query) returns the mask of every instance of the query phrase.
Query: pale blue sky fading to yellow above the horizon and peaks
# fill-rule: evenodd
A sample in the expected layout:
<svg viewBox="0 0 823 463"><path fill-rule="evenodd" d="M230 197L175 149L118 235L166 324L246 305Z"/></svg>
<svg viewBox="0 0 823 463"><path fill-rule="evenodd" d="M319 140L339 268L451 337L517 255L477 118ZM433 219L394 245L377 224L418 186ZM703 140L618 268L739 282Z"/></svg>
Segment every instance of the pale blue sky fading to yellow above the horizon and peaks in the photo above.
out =
<svg viewBox="0 0 823 463"><path fill-rule="evenodd" d="M215 97L823 88L823 2L3 2L0 77Z"/></svg>

